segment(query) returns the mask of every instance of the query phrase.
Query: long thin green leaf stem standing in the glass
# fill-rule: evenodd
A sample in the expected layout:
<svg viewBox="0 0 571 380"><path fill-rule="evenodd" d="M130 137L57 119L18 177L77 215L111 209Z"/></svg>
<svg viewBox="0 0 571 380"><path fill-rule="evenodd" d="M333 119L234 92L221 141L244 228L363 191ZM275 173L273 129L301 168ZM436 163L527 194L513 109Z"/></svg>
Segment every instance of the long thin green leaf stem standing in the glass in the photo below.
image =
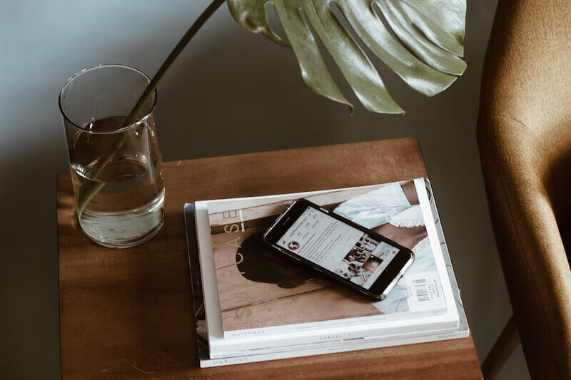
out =
<svg viewBox="0 0 571 380"><path fill-rule="evenodd" d="M226 0L213 0L211 4L208 5L208 7L206 7L206 9L202 12L202 14L198 16L198 19L194 21L194 24L192 24L191 28L188 29L188 31L186 31L186 34L184 34L184 36L181 38L181 41L178 41L176 46L173 48L173 51L171 51L171 53L168 55L168 57L163 62L161 67L158 68L158 71L156 72L155 76L153 76L151 82L148 83L148 85L145 88L145 91L143 91L141 96L138 98L138 101L133 107L133 110L127 116L125 123L123 123L123 127L131 125L138 120L137 117L138 113L141 112L141 108L143 108L143 105L146 103L148 97L151 96L151 94L155 91L156 87L158 86L158 82L161 81L166 71L168 71L168 68L171 67L176 58L181 54L186 45L188 45L188 43L191 41L193 36L195 36L195 34L198 32L198 30L201 29L204 23L206 23L206 21L210 19L210 17L214 14L214 12L218 8L220 8L220 6L224 3L224 1ZM116 144L113 145L111 152L109 152L105 157L98 160L98 162L94 165L94 167L89 170L89 178L91 179L91 181L82 183L79 186L79 188L77 188L76 210L78 218L81 217L81 212L83 212L87 203L99 192L99 190L103 188L103 186L105 186L105 183L96 182L97 177L99 176L99 174L101 174L106 165L111 162L113 156L118 152L118 150L120 150L121 147L123 146L123 143L125 142L127 137L126 133L127 131L124 131L123 135L121 135L121 137L118 138Z"/></svg>

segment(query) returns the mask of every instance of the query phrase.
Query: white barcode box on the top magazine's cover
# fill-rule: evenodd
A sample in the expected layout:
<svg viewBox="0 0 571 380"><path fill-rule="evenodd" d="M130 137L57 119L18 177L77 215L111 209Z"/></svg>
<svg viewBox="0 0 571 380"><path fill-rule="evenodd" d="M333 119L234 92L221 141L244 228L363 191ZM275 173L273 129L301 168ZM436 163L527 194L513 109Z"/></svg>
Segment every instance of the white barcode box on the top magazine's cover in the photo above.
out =
<svg viewBox="0 0 571 380"><path fill-rule="evenodd" d="M405 274L408 306L411 312L446 308L446 301L438 272Z"/></svg>

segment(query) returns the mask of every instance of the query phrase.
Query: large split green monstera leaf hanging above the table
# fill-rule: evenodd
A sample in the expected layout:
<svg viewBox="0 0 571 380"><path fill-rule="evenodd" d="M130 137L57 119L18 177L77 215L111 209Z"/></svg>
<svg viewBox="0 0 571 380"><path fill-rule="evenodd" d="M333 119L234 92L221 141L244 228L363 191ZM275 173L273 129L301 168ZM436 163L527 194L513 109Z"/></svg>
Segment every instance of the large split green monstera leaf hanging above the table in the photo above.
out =
<svg viewBox="0 0 571 380"><path fill-rule="evenodd" d="M289 43L268 25L268 3L276 10ZM404 112L333 6L375 56L426 96L444 91L466 68L459 58L464 52L460 42L465 0L228 0L228 6L244 28L293 49L309 88L351 109L325 66L313 32L366 109Z"/></svg>

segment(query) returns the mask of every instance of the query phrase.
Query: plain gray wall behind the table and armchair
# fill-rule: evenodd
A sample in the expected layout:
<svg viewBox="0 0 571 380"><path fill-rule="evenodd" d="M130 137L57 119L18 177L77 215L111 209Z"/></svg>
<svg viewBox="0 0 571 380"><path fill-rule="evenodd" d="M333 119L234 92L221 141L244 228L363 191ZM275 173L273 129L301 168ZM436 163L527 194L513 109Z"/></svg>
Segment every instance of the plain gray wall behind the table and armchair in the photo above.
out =
<svg viewBox="0 0 571 380"><path fill-rule="evenodd" d="M97 63L155 73L206 4L0 2L0 363L9 377L59 376L55 176L67 170L59 88ZM223 6L159 86L163 159L418 136L481 360L511 314L475 140L495 5L468 1L468 70L450 90L425 98L374 61L407 115L357 106L353 117L303 86L287 48L241 29ZM515 376L528 376L521 349L502 371Z"/></svg>

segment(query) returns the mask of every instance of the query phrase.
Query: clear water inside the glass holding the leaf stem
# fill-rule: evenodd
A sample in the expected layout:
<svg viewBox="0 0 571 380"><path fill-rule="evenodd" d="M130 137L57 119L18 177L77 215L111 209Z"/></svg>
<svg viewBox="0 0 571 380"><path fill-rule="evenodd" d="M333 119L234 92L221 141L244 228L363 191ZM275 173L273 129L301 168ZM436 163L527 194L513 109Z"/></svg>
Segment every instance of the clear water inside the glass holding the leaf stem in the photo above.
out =
<svg viewBox="0 0 571 380"><path fill-rule="evenodd" d="M76 189L99 189L86 205L76 202L81 228L107 247L131 247L163 225L164 186L153 115L117 132L124 116L84 125L69 146ZM87 184L87 185L86 185Z"/></svg>

